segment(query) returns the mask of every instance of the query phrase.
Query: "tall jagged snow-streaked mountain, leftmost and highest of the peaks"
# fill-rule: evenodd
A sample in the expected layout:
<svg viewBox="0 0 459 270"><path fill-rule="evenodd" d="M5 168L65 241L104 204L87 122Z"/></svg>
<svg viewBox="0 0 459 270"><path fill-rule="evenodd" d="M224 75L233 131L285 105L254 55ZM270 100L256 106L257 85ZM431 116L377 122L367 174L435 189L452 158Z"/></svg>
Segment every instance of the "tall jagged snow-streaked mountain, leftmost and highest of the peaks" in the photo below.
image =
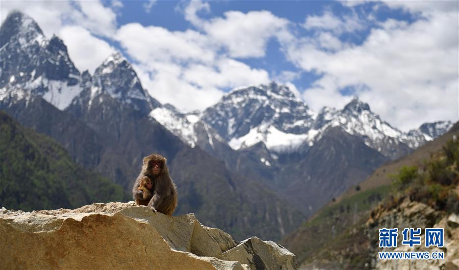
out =
<svg viewBox="0 0 459 270"><path fill-rule="evenodd" d="M0 29L0 101L42 96L65 109L80 92L80 72L61 39L46 39L38 24L20 12Z"/></svg>

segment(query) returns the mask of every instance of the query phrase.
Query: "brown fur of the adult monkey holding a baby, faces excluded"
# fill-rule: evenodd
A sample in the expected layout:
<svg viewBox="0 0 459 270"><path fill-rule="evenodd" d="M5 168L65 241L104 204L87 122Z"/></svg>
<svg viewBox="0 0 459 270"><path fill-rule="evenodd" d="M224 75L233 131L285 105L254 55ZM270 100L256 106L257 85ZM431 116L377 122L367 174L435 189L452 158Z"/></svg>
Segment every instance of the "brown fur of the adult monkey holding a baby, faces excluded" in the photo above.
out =
<svg viewBox="0 0 459 270"><path fill-rule="evenodd" d="M153 162L160 163L161 168L157 174L153 172ZM153 183L151 197L145 196L144 191L140 190L140 183L143 183L142 179L145 177ZM147 190L150 191L148 188ZM132 195L138 205L147 205L154 211L172 215L177 207L177 188L169 176L165 157L153 154L143 158L142 170L132 187Z"/></svg>

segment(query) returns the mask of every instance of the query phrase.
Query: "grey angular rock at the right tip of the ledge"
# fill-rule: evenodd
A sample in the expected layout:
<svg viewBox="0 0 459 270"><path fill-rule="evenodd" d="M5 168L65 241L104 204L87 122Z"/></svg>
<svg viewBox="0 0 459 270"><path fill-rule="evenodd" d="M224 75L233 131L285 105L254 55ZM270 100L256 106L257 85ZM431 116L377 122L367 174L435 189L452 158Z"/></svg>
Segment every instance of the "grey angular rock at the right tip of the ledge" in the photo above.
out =
<svg viewBox="0 0 459 270"><path fill-rule="evenodd" d="M273 241L253 236L224 252L220 258L248 264L252 269L296 269L296 256Z"/></svg>

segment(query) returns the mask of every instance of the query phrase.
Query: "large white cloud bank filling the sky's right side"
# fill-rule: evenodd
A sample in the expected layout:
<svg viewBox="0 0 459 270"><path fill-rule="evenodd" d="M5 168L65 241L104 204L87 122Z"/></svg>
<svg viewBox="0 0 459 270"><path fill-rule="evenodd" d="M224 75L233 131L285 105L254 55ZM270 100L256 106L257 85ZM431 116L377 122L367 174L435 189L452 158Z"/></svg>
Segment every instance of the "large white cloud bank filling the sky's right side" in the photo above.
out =
<svg viewBox="0 0 459 270"><path fill-rule="evenodd" d="M284 42L289 61L323 74L304 91L305 101L316 111L324 105L340 108L351 98L340 90L365 85L355 93L402 130L428 121L457 121L458 15L457 8L445 10L417 11L428 17L411 24L386 20L363 44L333 51L308 38ZM320 25L314 26L319 33L328 33Z"/></svg>

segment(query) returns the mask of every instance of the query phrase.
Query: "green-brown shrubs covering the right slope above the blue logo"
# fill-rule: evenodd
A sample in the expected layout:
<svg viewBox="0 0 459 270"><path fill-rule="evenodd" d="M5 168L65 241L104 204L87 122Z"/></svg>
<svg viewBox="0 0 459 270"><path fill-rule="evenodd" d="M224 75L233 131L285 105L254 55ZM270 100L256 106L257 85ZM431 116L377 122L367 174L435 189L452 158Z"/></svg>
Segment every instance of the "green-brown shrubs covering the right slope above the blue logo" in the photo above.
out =
<svg viewBox="0 0 459 270"><path fill-rule="evenodd" d="M459 213L459 196L455 192L459 184L458 163L459 141L449 140L440 153L432 155L422 166L405 166L394 175L394 196L385 203L397 204L408 196L436 210Z"/></svg>

